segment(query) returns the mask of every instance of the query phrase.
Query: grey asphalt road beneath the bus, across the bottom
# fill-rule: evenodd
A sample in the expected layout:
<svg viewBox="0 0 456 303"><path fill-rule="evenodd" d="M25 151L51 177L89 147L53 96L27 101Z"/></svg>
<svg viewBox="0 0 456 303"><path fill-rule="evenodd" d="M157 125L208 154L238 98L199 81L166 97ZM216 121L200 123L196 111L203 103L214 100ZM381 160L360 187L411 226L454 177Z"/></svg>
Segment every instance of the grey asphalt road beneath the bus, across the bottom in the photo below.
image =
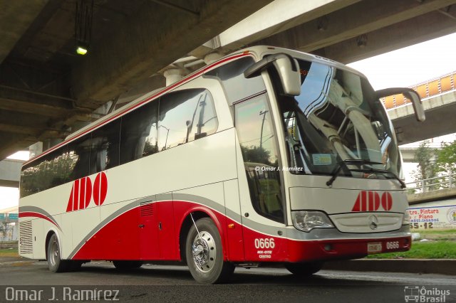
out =
<svg viewBox="0 0 456 303"><path fill-rule="evenodd" d="M426 301L417 302L456 302L455 276L322 270L300 280L264 267L237 268L225 285L199 285L180 266L118 272L109 262L91 262L56 274L46 262L11 259L0 262L0 285L0 302L93 302L92 294L98 302L405 302L418 292Z"/></svg>

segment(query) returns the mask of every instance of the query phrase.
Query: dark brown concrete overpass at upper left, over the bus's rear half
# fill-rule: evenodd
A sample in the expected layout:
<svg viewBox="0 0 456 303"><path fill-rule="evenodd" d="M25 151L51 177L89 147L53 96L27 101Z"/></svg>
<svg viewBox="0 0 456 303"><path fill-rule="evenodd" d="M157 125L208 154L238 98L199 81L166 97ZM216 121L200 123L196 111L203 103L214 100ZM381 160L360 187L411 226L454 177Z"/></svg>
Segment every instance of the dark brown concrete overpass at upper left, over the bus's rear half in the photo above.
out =
<svg viewBox="0 0 456 303"><path fill-rule="evenodd" d="M270 1L0 0L0 159L65 137L141 80L163 86L150 76Z"/></svg>

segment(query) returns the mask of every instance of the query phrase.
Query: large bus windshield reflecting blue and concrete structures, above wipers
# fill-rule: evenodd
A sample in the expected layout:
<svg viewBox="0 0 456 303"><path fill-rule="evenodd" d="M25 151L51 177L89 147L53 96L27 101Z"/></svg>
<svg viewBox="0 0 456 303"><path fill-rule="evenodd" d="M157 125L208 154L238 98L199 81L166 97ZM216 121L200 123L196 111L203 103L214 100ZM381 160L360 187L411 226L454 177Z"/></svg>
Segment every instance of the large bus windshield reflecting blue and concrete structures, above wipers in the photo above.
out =
<svg viewBox="0 0 456 303"><path fill-rule="evenodd" d="M301 168L292 172L340 171L345 176L374 179L400 176L392 124L368 81L348 70L298 61L301 95L279 99L289 165ZM343 163L362 165L338 170Z"/></svg>

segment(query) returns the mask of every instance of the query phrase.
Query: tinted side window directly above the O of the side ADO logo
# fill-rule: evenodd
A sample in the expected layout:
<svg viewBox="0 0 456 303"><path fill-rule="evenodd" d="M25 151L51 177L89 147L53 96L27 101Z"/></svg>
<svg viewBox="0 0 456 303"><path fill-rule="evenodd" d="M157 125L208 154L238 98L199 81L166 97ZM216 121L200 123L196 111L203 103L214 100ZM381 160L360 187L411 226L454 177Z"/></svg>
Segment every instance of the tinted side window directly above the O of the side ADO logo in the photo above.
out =
<svg viewBox="0 0 456 303"><path fill-rule="evenodd" d="M120 119L92 132L90 142L90 174L119 165Z"/></svg>

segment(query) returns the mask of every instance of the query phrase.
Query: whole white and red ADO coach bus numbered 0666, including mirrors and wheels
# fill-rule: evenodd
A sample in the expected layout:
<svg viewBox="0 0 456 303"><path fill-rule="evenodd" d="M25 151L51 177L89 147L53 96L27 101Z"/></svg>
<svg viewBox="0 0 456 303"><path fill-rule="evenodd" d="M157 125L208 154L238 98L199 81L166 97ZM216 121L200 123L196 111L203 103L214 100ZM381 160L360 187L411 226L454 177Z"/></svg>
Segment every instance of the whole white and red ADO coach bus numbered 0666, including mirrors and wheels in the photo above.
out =
<svg viewBox="0 0 456 303"><path fill-rule="evenodd" d="M120 108L24 164L19 252L53 272L187 262L195 280L235 266L323 262L410 248L402 161L356 70L255 46Z"/></svg>

